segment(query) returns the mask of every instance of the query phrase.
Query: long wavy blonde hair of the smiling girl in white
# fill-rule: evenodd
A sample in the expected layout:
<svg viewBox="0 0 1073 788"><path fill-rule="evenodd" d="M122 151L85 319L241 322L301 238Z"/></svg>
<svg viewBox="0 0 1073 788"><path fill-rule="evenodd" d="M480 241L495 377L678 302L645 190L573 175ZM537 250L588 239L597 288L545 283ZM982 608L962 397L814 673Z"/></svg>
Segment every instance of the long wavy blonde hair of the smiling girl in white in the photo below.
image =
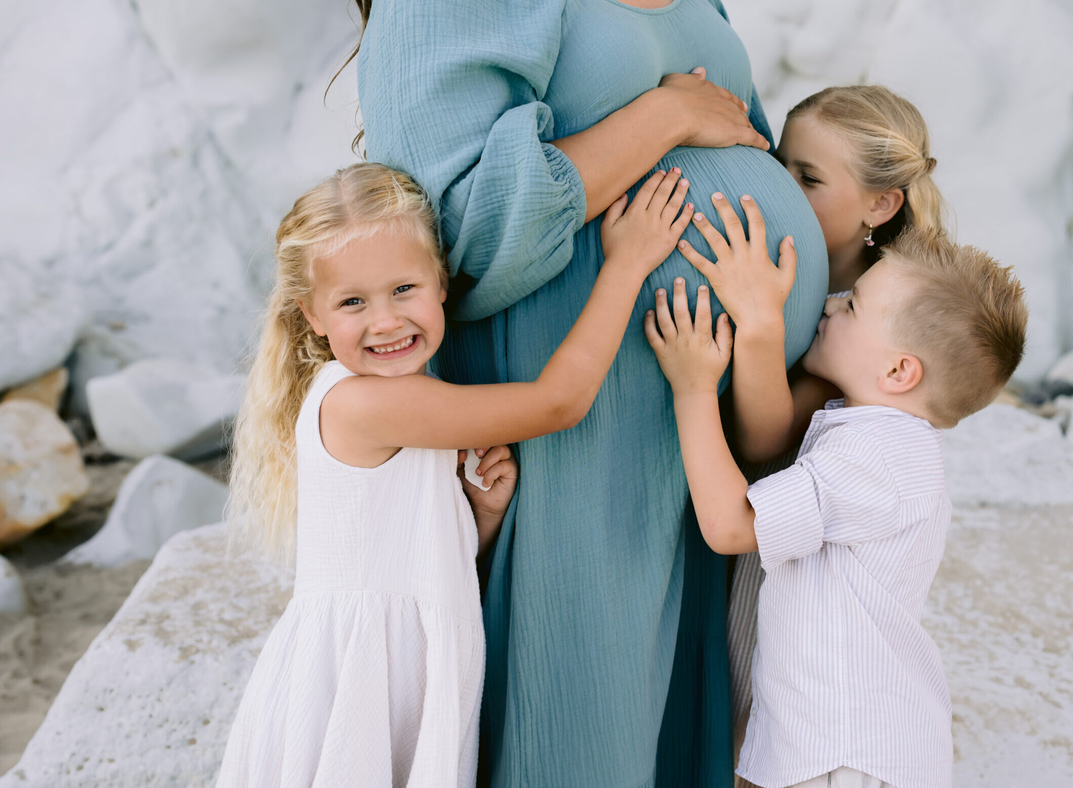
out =
<svg viewBox="0 0 1073 788"><path fill-rule="evenodd" d="M294 552L297 515L294 426L309 386L332 361L327 337L309 325L299 301L312 291L312 263L351 240L392 229L442 261L436 210L407 174L366 162L339 170L299 196L276 232L276 286L264 313L246 398L232 444L224 515L233 546ZM446 272L441 265L446 284Z"/></svg>

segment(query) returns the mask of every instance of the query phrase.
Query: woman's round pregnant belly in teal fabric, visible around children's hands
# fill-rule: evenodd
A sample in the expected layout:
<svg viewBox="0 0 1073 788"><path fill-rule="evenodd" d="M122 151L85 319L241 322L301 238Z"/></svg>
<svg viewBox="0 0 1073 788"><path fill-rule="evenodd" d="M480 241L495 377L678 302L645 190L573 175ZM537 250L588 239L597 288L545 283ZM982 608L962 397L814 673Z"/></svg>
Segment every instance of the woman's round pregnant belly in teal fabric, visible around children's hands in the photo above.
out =
<svg viewBox="0 0 1073 788"><path fill-rule="evenodd" d="M783 310L787 366L790 367L808 350L827 294L826 244L815 214L800 187L770 154L740 145L732 148L675 148L663 157L657 169L670 170L673 166L679 167L684 177L689 180L687 200L718 230L722 231L723 225L711 205L711 193L721 191L727 196L743 223L746 218L738 204L740 196L749 194L756 201L767 224L767 252L773 261L778 260L782 238L787 235L794 236L797 276ZM638 186L640 183L631 189L631 199ZM707 242L696 228L691 225L684 237L705 257L714 259ZM678 276L686 279L690 309L695 309L696 288L706 283L706 280L677 250L648 277L641 292L638 307L650 307L655 301L656 288L662 287L670 291L674 278ZM711 307L714 315L723 311L714 295Z"/></svg>

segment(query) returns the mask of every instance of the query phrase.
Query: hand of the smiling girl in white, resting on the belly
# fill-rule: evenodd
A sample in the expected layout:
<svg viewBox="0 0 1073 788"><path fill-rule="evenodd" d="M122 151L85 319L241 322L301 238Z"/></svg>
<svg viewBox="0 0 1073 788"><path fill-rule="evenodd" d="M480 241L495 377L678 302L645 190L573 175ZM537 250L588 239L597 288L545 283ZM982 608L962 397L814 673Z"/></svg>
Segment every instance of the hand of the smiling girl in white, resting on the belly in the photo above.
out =
<svg viewBox="0 0 1073 788"><path fill-rule="evenodd" d="M637 190L629 207L626 194L612 203L600 229L605 266L626 265L644 278L674 251L693 216L692 203L682 207L689 181L680 176L678 167L668 173L660 170Z"/></svg>

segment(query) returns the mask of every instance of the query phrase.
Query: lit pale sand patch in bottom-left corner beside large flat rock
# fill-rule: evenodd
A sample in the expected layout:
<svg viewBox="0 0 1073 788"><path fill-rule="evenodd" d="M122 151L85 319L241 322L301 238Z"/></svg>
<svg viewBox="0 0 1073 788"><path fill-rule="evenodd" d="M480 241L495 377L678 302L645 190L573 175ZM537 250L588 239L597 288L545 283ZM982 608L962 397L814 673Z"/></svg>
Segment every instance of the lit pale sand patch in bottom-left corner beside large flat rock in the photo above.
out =
<svg viewBox="0 0 1073 788"><path fill-rule="evenodd" d="M18 761L71 668L148 566L50 564L23 571L30 614L0 615L0 774Z"/></svg>

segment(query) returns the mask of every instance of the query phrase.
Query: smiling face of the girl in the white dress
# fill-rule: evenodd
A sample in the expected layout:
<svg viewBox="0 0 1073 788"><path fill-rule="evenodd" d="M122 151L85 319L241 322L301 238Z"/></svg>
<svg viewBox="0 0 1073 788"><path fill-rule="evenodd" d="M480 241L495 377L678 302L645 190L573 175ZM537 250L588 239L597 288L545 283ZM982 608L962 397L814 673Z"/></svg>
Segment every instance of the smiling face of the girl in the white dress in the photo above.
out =
<svg viewBox="0 0 1073 788"><path fill-rule="evenodd" d="M344 367L386 378L424 374L443 340L447 297L425 245L381 230L318 258L311 274L302 311Z"/></svg>

